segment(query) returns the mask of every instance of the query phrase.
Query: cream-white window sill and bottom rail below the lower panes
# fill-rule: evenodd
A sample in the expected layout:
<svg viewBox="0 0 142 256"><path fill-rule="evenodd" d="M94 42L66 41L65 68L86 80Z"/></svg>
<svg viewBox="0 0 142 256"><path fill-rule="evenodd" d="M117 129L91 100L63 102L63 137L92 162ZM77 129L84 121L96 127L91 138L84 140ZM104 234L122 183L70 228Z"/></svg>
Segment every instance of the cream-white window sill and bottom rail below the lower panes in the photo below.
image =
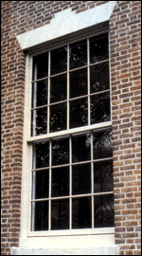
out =
<svg viewBox="0 0 142 256"><path fill-rule="evenodd" d="M32 232L21 237L20 247L12 247L11 255L116 255L115 228L60 232L52 231L52 236L51 232L48 236L47 232Z"/></svg>

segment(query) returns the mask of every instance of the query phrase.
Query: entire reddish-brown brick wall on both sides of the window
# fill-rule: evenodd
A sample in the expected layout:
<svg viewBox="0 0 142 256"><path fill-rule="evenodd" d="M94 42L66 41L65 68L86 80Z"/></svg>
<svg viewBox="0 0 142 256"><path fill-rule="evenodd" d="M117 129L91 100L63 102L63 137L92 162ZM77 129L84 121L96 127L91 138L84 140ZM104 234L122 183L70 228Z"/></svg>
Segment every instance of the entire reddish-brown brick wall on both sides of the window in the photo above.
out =
<svg viewBox="0 0 142 256"><path fill-rule="evenodd" d="M16 35L108 1L2 1L2 255L18 247L21 213L25 55ZM118 1L110 20L115 243L140 255L140 1Z"/></svg>

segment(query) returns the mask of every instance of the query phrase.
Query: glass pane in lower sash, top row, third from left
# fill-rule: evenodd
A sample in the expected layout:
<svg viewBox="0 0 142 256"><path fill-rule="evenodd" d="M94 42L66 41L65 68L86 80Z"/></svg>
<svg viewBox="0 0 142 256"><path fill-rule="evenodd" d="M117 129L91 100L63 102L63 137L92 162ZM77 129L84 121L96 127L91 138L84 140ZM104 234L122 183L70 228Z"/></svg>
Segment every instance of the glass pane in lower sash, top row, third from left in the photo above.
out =
<svg viewBox="0 0 142 256"><path fill-rule="evenodd" d="M91 137L89 134L72 137L72 162L91 159Z"/></svg>

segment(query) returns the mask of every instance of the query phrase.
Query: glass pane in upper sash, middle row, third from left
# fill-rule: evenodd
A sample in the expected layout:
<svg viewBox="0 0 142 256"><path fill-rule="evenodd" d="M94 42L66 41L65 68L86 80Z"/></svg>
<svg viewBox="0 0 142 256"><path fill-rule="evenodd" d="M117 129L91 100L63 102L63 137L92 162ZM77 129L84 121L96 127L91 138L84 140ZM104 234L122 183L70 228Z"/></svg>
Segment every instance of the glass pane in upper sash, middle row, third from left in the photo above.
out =
<svg viewBox="0 0 142 256"><path fill-rule="evenodd" d="M70 72L70 98L87 94L87 68Z"/></svg>

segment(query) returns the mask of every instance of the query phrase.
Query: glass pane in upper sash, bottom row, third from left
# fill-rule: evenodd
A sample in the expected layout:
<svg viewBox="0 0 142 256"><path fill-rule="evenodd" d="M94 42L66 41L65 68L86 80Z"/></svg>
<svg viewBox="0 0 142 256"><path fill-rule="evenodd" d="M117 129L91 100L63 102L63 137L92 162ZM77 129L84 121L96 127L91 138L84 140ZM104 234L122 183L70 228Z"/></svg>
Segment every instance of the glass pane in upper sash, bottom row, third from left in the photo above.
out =
<svg viewBox="0 0 142 256"><path fill-rule="evenodd" d="M70 101L70 128L88 125L88 100Z"/></svg>

